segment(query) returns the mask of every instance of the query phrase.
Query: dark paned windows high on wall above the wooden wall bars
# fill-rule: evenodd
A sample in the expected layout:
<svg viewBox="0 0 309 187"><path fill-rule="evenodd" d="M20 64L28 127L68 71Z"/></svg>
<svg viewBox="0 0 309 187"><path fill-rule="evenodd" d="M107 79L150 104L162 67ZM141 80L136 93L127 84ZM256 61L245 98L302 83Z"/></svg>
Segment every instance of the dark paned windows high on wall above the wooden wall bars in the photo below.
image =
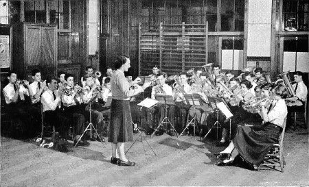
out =
<svg viewBox="0 0 309 187"><path fill-rule="evenodd" d="M221 2L218 14L218 2ZM221 30L217 22L221 20ZM244 0L142 0L141 23L143 25L205 24L209 32L244 31Z"/></svg>

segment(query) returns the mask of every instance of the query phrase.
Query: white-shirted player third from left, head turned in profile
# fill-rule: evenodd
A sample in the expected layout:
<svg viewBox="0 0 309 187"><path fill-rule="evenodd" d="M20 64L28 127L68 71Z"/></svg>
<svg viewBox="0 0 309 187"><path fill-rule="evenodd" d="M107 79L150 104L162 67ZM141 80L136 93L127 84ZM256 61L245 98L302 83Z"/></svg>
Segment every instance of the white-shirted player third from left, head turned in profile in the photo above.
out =
<svg viewBox="0 0 309 187"><path fill-rule="evenodd" d="M65 116L59 110L61 107L62 89L57 90L58 81L56 77L47 78L47 90L43 92L41 102L43 104L43 112L45 114L44 121L51 126L56 127L56 131L60 132L60 138L66 138L69 127Z"/></svg>

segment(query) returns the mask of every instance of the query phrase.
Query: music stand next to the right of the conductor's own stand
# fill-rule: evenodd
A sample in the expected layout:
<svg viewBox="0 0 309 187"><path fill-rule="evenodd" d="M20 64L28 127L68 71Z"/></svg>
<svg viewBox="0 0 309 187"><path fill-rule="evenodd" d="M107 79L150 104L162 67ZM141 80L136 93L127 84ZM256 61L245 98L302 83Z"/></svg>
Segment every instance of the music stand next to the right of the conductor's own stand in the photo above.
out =
<svg viewBox="0 0 309 187"><path fill-rule="evenodd" d="M172 95L155 95L157 101L159 101L159 104L163 104L165 106L165 110L164 110L164 119L159 123L157 129L155 129L155 132L157 132L157 130L159 129L159 127L161 127L161 125L167 125L170 124L172 126L172 128L174 129L174 131L176 132L176 136L177 138L178 133L174 127L174 125L172 125L172 123L170 122L170 119L168 119L168 114L166 114L168 112L168 105L175 105L174 103L174 97L172 97ZM166 128L165 128L166 129ZM152 137L155 132L153 132L150 137Z"/></svg>

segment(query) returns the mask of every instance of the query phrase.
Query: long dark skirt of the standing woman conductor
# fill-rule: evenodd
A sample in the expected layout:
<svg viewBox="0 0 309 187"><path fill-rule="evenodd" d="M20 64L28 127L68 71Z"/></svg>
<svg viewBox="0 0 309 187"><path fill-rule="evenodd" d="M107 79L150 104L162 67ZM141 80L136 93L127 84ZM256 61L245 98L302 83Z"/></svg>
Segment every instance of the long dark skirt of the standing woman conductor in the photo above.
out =
<svg viewBox="0 0 309 187"><path fill-rule="evenodd" d="M113 99L111 102L111 124L108 142L133 141L130 101Z"/></svg>

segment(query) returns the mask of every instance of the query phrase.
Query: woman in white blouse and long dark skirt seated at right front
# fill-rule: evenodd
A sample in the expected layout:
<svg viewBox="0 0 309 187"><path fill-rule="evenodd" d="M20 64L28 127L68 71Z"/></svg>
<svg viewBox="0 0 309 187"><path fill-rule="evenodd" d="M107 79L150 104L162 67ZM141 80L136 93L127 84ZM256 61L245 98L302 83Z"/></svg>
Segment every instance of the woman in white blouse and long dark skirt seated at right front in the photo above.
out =
<svg viewBox="0 0 309 187"><path fill-rule="evenodd" d="M253 165L259 166L274 143L278 142L279 134L282 131L282 124L288 113L284 99L288 95L285 86L279 85L271 89L273 104L270 110L266 110L266 102L260 103L260 114L263 119L261 125L239 126L235 138L229 146L218 154L223 161L218 166L235 165L236 156L239 160L249 163L245 168L254 170ZM238 163L237 163L238 164Z"/></svg>

